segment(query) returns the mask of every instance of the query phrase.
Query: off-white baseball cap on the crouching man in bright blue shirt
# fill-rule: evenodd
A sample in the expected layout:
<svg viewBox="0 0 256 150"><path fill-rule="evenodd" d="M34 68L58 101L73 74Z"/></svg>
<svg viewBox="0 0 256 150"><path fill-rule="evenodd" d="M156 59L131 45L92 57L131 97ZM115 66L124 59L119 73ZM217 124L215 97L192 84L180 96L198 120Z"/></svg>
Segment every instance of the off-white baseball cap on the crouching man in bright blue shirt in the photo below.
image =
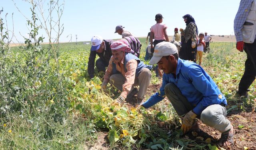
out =
<svg viewBox="0 0 256 150"><path fill-rule="evenodd" d="M170 56L178 53L177 47L170 42L160 42L155 46L153 57L149 64L157 64L163 56Z"/></svg>

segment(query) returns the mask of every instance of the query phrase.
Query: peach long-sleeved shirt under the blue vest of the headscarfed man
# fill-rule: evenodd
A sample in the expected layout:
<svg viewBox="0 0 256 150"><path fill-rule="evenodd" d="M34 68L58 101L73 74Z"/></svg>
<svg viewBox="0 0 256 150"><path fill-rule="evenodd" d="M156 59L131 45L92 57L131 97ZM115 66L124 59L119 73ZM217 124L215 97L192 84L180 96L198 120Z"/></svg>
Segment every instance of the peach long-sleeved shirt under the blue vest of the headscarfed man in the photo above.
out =
<svg viewBox="0 0 256 150"><path fill-rule="evenodd" d="M127 64L126 64L127 72L125 72L125 70L124 70L124 57L121 60L121 62L116 64L116 70L121 72L121 74L126 79L123 86L122 86L123 87L122 93L120 94L120 96L123 96L124 98L126 98L127 94L130 92L130 90L132 88L132 85L134 84L135 73L136 73L136 68L138 66L138 62L135 59L132 59L132 60L128 61ZM106 70L105 75L104 75L103 84L105 84L105 85L109 82L109 78L112 75L112 62L113 62L113 57L110 58L110 61L109 61L109 64L108 64L108 69Z"/></svg>

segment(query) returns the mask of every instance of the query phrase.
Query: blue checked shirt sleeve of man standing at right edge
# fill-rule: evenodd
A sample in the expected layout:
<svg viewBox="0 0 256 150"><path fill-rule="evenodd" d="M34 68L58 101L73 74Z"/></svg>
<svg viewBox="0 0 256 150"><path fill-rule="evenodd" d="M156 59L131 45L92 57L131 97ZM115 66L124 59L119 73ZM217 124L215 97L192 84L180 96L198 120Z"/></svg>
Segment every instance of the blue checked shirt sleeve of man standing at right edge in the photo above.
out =
<svg viewBox="0 0 256 150"><path fill-rule="evenodd" d="M236 17L234 20L234 33L236 36L236 42L243 41L242 27L250 12L252 2L254 0L241 0Z"/></svg>

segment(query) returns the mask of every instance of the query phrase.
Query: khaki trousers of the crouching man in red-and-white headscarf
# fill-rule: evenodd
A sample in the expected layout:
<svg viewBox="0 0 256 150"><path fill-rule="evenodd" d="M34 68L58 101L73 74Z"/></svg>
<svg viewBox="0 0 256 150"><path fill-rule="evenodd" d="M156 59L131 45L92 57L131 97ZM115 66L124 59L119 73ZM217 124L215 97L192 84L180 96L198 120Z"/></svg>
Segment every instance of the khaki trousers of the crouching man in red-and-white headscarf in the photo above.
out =
<svg viewBox="0 0 256 150"><path fill-rule="evenodd" d="M116 88L118 88L118 90L122 91L122 86L125 82L125 78L122 74L113 74L112 76L110 76L110 83L114 84L114 86L116 86ZM139 90L138 90L138 94L137 97L138 98L144 98L145 93L148 89L148 85L151 79L151 72L148 68L143 68L142 71L140 72L138 78L135 78L134 80L134 84L132 85L132 88L134 86L140 86ZM132 89L131 89L132 91ZM129 93L128 93L129 95Z"/></svg>

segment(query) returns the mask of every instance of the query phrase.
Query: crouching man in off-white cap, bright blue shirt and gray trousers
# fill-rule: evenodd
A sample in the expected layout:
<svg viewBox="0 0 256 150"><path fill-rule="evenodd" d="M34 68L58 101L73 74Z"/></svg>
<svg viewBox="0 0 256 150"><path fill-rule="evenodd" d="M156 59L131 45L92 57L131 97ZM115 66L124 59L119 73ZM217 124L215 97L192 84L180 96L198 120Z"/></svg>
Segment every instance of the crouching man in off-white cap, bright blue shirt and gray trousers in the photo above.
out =
<svg viewBox="0 0 256 150"><path fill-rule="evenodd" d="M153 106L167 96L182 120L184 134L192 129L199 130L195 120L199 118L222 133L219 146L234 144L233 126L226 118L226 98L201 66L180 59L176 46L170 42L157 44L149 63L158 64L164 75L160 93L156 92L144 102L144 108Z"/></svg>

